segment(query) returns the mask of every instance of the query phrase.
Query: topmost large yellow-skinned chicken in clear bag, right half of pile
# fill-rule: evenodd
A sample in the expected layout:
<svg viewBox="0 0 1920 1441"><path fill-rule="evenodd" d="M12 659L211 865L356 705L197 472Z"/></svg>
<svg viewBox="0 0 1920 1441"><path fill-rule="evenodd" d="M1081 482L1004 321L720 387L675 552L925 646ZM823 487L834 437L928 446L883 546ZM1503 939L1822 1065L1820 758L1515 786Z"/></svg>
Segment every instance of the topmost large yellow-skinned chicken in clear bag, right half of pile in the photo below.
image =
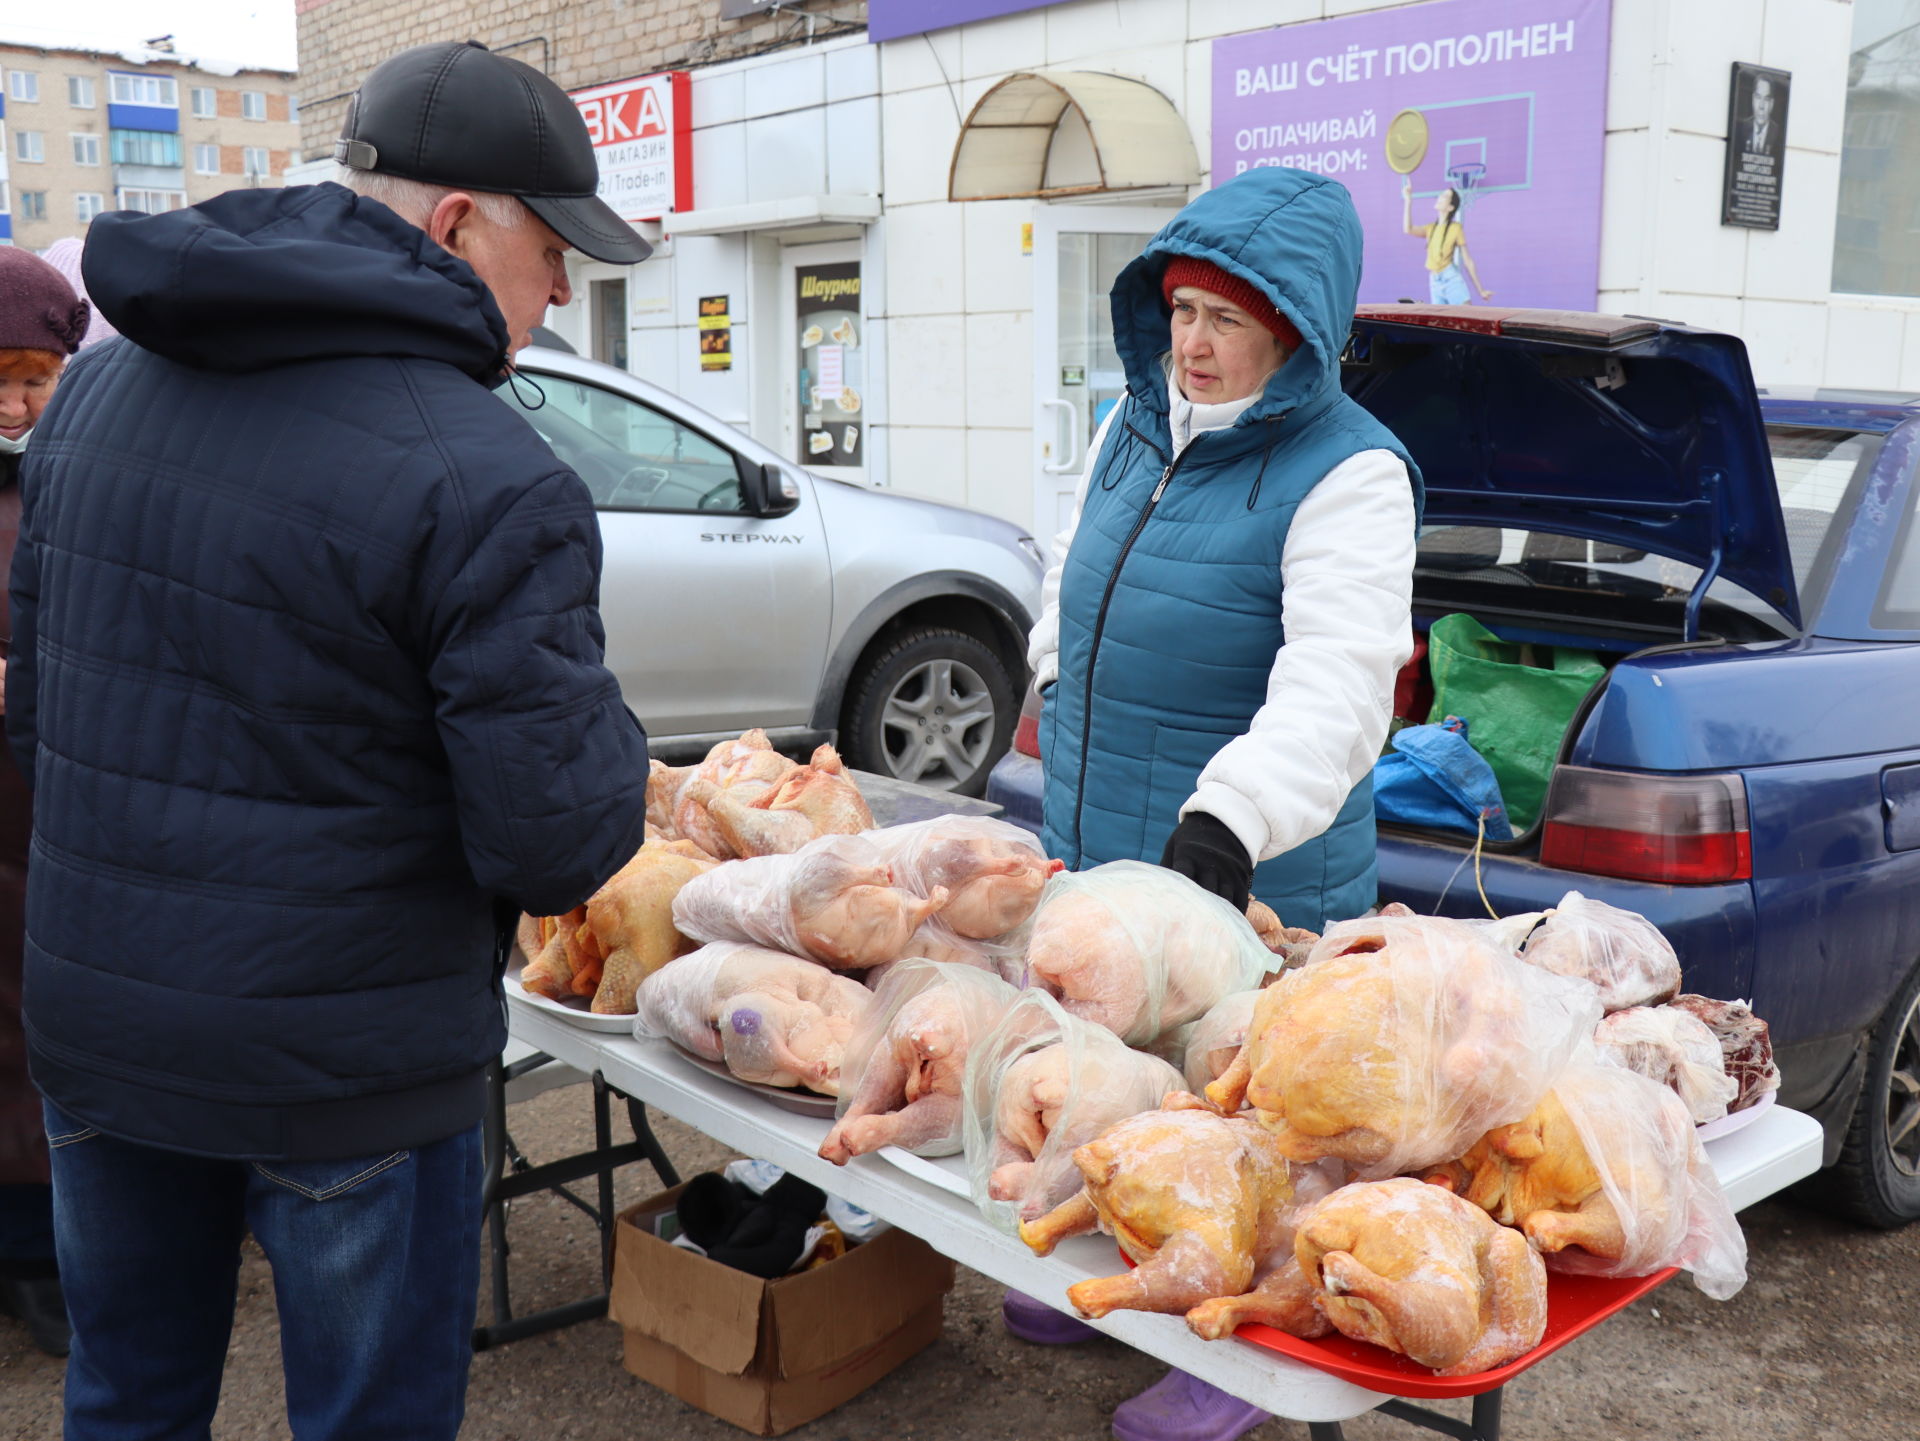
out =
<svg viewBox="0 0 1920 1441"><path fill-rule="evenodd" d="M1599 998L1461 921L1363 925L1365 948L1261 992L1246 1046L1206 1096L1225 1113L1250 1103L1294 1161L1340 1157L1380 1180L1524 1117L1594 1034Z"/></svg>

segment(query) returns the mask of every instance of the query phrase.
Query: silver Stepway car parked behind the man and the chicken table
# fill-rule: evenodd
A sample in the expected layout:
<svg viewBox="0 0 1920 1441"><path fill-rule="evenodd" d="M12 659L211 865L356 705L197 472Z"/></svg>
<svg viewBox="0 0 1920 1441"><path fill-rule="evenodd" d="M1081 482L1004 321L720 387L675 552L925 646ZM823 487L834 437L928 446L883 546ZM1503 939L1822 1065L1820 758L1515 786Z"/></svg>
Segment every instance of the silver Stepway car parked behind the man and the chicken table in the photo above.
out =
<svg viewBox="0 0 1920 1441"><path fill-rule="evenodd" d="M1027 683L1041 551L1004 520L814 476L559 349L503 386L599 508L607 664L662 758L781 750L979 794ZM541 399L543 395L543 399Z"/></svg>

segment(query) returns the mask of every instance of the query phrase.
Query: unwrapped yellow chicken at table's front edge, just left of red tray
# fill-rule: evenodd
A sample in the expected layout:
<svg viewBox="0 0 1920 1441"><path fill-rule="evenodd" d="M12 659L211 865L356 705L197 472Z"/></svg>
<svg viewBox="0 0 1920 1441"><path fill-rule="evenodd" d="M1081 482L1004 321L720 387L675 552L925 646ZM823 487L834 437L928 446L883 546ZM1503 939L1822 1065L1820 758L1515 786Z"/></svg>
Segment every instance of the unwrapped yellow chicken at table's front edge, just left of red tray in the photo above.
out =
<svg viewBox="0 0 1920 1441"><path fill-rule="evenodd" d="M1037 1255L1098 1228L1137 1263L1069 1286L1068 1301L1083 1316L1160 1311L1192 1320L1202 1303L1246 1297L1275 1270L1273 1259L1300 1274L1292 1253L1300 1188L1273 1138L1250 1121L1196 1109L1190 1096L1167 1099L1175 1109L1129 1117L1073 1151L1081 1193L1020 1228ZM1306 1287L1296 1291L1306 1314L1294 1324L1309 1330L1319 1318Z"/></svg>

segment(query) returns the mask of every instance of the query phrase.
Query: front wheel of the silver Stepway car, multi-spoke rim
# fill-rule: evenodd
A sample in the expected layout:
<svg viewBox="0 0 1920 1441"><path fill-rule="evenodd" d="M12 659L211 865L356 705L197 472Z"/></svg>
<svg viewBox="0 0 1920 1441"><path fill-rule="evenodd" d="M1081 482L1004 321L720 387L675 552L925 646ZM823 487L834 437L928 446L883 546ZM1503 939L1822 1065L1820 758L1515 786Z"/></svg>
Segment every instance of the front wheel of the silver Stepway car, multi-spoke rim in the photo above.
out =
<svg viewBox="0 0 1920 1441"><path fill-rule="evenodd" d="M964 631L895 635L847 695L847 760L914 785L977 796L1014 739L1018 704L1006 662Z"/></svg>

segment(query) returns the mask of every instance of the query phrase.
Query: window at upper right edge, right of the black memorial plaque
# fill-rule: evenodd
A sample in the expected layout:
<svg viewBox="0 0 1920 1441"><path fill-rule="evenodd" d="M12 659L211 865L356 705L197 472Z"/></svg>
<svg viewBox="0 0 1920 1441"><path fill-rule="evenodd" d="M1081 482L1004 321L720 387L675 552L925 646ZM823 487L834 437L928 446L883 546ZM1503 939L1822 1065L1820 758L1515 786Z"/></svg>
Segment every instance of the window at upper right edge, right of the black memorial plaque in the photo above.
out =
<svg viewBox="0 0 1920 1441"><path fill-rule="evenodd" d="M1920 295L1920 0L1855 0L1834 290Z"/></svg>

